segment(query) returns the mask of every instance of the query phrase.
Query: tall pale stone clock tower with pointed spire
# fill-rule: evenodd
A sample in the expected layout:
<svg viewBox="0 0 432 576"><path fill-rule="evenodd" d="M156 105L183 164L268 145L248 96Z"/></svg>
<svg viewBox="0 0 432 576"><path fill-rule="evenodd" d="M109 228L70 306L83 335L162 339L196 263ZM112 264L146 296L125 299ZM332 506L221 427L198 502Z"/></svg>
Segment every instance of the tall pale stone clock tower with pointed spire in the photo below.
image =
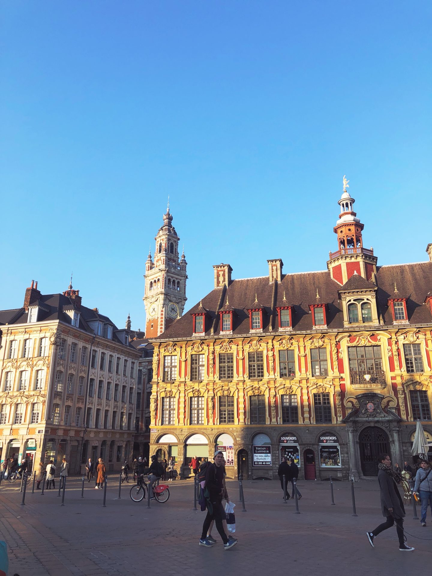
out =
<svg viewBox="0 0 432 576"><path fill-rule="evenodd" d="M186 266L184 251L179 259L179 236L172 225L169 203L164 223L158 230L154 260L151 249L146 261L144 305L146 337L156 338L173 320L183 314L186 298Z"/></svg>

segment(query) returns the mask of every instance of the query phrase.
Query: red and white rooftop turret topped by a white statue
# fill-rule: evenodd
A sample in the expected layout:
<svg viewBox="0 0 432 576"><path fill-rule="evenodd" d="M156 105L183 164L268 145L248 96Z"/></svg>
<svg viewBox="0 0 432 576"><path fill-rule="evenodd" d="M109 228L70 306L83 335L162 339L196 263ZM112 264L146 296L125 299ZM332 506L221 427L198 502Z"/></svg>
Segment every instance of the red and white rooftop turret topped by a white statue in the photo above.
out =
<svg viewBox="0 0 432 576"><path fill-rule="evenodd" d="M338 201L340 206L339 220L334 228L338 236L338 250L329 253L327 268L331 277L341 286L353 274L363 276L366 280L375 281L377 257L373 248L363 248L363 224L353 210L354 198L347 191L349 180L343 177L343 193Z"/></svg>

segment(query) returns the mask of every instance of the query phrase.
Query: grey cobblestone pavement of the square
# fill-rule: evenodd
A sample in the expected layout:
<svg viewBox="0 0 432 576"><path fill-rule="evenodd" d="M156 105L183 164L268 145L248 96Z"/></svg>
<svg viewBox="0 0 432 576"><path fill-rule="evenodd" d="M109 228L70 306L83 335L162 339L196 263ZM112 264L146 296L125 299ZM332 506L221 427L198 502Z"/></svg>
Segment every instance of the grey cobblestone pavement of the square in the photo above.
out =
<svg viewBox="0 0 432 576"><path fill-rule="evenodd" d="M111 479L109 479L111 480ZM171 496L165 504L135 503L129 498L131 484L108 482L107 507L103 491L81 481L68 479L65 506L60 507L58 491L26 494L25 506L18 484L2 482L0 487L0 535L9 551L9 574L103 575L162 574L190 575L193 567L205 566L205 574L247 573L251 576L279 574L281 570L332 576L363 574L407 574L414 566L432 560L432 524L427 528L412 520L406 507L405 527L412 536L408 543L416 550L399 552L396 529L382 533L372 549L365 532L383 520L376 481L355 484L358 517L352 516L350 484L335 482L335 506L331 506L328 482L301 482L300 514L294 502L284 503L278 482L244 482L247 511L241 511L238 483L227 483L236 506L238 545L223 550L218 540L213 548L198 546L204 513L193 511L191 480L169 484ZM427 539L427 540L426 540Z"/></svg>

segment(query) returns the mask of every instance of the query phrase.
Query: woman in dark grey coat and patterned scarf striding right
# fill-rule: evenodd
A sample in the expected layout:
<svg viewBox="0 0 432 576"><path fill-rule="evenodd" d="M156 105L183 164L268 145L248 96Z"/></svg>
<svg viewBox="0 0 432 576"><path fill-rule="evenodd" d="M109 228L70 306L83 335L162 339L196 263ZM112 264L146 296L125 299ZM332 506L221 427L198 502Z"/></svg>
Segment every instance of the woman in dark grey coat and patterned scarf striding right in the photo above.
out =
<svg viewBox="0 0 432 576"><path fill-rule="evenodd" d="M403 519L405 509L403 501L397 488L397 484L402 481L398 472L392 470L392 461L388 454L381 454L378 457L378 484L380 484L381 510L385 522L377 526L372 532L366 532L369 544L374 548L374 540L383 530L391 528L396 522L396 532L399 539L399 550L401 552L412 552L414 548L408 546L404 541Z"/></svg>

